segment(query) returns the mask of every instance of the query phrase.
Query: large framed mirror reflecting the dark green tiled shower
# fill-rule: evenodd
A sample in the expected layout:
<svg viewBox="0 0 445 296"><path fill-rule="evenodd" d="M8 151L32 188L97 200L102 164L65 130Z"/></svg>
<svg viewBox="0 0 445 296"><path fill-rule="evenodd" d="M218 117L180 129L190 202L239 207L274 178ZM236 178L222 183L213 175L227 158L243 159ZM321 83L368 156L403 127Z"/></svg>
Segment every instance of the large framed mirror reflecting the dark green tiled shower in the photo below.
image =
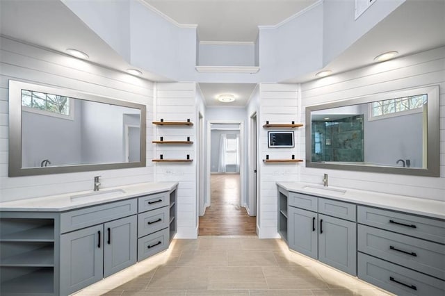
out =
<svg viewBox="0 0 445 296"><path fill-rule="evenodd" d="M306 166L439 176L439 85L306 107Z"/></svg>

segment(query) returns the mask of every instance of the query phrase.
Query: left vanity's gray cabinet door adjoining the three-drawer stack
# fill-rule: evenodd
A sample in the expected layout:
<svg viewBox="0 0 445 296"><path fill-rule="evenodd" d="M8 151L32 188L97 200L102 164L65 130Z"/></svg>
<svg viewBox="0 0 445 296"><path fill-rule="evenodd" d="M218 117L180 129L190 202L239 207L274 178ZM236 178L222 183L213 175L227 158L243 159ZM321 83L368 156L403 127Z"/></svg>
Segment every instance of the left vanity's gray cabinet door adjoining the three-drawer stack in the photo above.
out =
<svg viewBox="0 0 445 296"><path fill-rule="evenodd" d="M104 224L104 277L136 263L136 215Z"/></svg>

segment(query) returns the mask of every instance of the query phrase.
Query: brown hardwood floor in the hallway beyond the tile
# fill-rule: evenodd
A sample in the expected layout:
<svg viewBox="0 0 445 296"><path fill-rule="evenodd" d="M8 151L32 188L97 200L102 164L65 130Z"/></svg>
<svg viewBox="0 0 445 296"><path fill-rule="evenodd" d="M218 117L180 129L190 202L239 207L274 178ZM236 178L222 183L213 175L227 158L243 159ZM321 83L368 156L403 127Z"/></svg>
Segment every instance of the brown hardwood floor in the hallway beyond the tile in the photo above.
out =
<svg viewBox="0 0 445 296"><path fill-rule="evenodd" d="M255 236L257 217L239 206L239 174L211 174L211 206L200 217L200 236Z"/></svg>

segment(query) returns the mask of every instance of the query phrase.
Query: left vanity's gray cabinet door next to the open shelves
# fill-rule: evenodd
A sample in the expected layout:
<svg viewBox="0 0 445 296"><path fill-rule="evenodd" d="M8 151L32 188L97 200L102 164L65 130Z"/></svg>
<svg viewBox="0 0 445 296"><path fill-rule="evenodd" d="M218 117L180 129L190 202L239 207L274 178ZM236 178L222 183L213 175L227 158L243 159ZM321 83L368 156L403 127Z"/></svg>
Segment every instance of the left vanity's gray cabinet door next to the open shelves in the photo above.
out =
<svg viewBox="0 0 445 296"><path fill-rule="evenodd" d="M60 236L61 295L70 295L102 279L103 249L103 224Z"/></svg>

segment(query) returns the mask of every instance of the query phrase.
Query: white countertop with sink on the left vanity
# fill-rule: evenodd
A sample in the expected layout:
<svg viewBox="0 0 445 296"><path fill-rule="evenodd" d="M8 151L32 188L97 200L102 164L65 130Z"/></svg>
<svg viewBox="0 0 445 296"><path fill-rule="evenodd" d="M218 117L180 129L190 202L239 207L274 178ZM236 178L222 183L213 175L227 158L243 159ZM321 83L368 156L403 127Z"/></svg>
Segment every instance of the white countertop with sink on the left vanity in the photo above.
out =
<svg viewBox="0 0 445 296"><path fill-rule="evenodd" d="M138 183L128 186L101 188L97 192L92 192L92 190L90 190L71 192L63 195L51 195L48 197L35 197L32 199L22 199L12 202L0 202L0 211L63 212L107 202L116 202L118 200L129 199L141 195L151 195L158 192L170 191L177 185L177 182ZM124 190L124 192L120 192L120 190ZM72 199L72 196L77 195L90 196L76 197Z"/></svg>

